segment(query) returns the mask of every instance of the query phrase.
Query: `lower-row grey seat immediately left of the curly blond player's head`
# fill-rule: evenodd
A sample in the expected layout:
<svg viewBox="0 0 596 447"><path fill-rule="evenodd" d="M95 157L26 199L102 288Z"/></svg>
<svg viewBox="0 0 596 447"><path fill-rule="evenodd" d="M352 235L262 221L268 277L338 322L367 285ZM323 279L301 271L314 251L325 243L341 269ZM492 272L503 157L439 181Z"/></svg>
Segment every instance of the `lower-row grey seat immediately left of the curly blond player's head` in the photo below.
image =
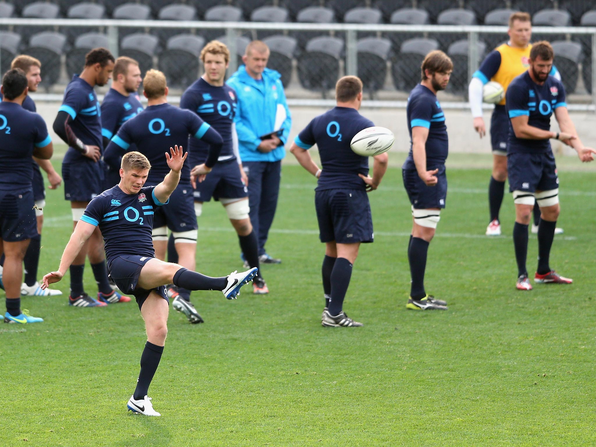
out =
<svg viewBox="0 0 596 447"><path fill-rule="evenodd" d="M159 55L158 67L167 77L168 85L187 88L199 76L198 60L205 39L191 34L173 36Z"/></svg>

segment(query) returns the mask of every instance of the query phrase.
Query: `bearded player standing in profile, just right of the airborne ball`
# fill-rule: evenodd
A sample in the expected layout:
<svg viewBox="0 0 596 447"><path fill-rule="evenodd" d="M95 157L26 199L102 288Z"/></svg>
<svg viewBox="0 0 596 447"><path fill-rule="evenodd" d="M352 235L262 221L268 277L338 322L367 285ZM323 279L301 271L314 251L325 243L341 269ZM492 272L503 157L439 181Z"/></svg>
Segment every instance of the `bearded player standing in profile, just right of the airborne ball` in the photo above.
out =
<svg viewBox="0 0 596 447"><path fill-rule="evenodd" d="M412 234L408 261L412 277L406 308L446 310L446 302L424 291L424 271L429 244L445 208L447 176L445 160L449 150L445 114L436 94L445 90L453 71L451 58L436 50L426 55L420 84L408 98L406 114L410 151L402 166L403 186L412 204Z"/></svg>

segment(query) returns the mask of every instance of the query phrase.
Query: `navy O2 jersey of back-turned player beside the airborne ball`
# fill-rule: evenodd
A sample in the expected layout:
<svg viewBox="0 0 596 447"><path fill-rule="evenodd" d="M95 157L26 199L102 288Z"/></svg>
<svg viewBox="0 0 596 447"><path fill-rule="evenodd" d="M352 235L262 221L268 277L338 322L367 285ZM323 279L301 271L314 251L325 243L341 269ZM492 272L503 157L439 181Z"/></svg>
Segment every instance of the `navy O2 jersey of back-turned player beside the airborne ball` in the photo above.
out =
<svg viewBox="0 0 596 447"><path fill-rule="evenodd" d="M368 157L350 148L354 135L373 127L373 122L351 107L334 107L315 117L294 142L303 149L319 148L322 172L316 191L336 188L365 190L365 182L358 174L368 175Z"/></svg>

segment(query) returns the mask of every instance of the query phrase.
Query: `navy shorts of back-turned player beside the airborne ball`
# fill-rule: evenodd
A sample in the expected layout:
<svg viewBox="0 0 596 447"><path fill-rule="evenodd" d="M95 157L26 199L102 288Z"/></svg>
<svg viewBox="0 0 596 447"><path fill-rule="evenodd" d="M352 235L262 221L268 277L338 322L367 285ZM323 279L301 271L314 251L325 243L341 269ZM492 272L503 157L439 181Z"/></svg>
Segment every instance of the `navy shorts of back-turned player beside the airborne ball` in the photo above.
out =
<svg viewBox="0 0 596 447"><path fill-rule="evenodd" d="M366 191L316 191L315 209L321 242L373 242L373 215Z"/></svg>

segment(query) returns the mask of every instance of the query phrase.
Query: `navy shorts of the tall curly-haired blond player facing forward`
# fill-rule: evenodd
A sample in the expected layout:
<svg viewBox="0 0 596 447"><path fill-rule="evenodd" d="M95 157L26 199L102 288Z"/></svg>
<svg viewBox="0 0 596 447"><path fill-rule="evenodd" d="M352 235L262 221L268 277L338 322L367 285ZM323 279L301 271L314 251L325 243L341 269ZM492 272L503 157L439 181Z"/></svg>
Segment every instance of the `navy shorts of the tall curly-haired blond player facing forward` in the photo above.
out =
<svg viewBox="0 0 596 447"><path fill-rule="evenodd" d="M194 200L208 202L213 197L215 200L223 198L248 197L248 189L240 177L240 168L237 160L218 162L205 179L197 183L194 190Z"/></svg>

